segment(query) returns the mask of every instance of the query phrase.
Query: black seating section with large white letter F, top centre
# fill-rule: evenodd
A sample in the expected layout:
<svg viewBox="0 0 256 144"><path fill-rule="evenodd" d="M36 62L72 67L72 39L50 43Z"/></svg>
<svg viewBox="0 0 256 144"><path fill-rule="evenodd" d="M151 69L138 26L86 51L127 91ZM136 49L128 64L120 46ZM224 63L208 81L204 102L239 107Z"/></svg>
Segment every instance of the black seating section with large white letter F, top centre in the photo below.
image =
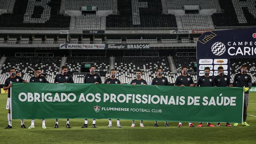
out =
<svg viewBox="0 0 256 144"><path fill-rule="evenodd" d="M118 0L118 15L106 17L106 28L174 28L173 14L162 14L161 0Z"/></svg>

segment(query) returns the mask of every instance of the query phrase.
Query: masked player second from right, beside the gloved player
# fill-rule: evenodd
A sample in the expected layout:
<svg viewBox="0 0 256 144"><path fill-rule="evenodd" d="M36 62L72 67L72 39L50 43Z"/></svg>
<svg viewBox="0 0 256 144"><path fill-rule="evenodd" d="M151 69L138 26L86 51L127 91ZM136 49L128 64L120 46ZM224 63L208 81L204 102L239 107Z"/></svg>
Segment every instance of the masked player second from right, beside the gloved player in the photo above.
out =
<svg viewBox="0 0 256 144"><path fill-rule="evenodd" d="M224 74L224 69L222 66L218 67L218 76L214 77L215 86L229 87L230 86L230 77ZM228 127L231 125L226 122L225 124ZM220 126L220 122L217 123L217 126Z"/></svg>

